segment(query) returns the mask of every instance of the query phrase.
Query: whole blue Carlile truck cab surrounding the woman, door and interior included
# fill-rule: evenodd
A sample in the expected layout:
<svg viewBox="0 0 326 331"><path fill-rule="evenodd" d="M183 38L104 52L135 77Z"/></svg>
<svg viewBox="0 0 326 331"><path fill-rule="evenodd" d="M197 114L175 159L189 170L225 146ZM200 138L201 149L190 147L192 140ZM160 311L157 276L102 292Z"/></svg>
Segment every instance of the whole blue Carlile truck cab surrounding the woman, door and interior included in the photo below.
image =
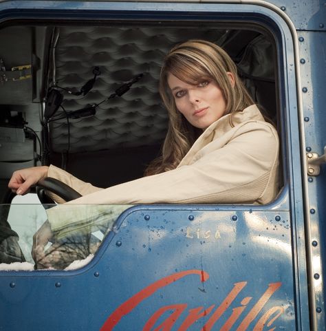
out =
<svg viewBox="0 0 326 331"><path fill-rule="evenodd" d="M321 0L0 1L0 330L325 330L325 37ZM162 60L188 39L223 47L274 123L279 194L76 205L85 236L58 217L65 255L38 267L47 191L76 196L51 180L15 196L13 171L142 177L168 125Z"/></svg>

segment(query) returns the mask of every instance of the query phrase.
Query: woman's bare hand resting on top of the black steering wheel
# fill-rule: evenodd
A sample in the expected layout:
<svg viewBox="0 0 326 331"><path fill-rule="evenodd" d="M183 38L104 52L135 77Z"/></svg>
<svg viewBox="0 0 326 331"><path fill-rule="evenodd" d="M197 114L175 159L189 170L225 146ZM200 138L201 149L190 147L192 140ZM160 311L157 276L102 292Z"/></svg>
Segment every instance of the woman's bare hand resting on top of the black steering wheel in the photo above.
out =
<svg viewBox="0 0 326 331"><path fill-rule="evenodd" d="M18 195L23 195L30 191L30 186L33 186L47 177L49 167L32 167L14 171L9 181L8 187L12 192Z"/></svg>

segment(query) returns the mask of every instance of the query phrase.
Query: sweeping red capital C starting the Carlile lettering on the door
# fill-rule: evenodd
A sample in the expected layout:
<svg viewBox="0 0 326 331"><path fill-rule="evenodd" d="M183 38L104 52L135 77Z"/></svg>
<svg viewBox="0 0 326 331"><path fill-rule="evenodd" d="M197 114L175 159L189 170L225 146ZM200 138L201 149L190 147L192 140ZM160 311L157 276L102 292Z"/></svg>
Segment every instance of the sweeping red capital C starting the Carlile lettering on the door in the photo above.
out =
<svg viewBox="0 0 326 331"><path fill-rule="evenodd" d="M180 273L175 273L173 275L169 275L164 277L155 283L147 286L146 288L142 289L137 294L133 295L130 299L122 303L114 312L108 317L108 319L103 324L100 331L111 331L113 328L119 323L120 319L124 317L124 315L129 314L133 308L138 306L138 304L143 301L144 299L153 295L159 288L167 286L180 278L183 278L187 275L199 275L201 281L206 281L209 278L208 273L203 270L186 270Z"/></svg>

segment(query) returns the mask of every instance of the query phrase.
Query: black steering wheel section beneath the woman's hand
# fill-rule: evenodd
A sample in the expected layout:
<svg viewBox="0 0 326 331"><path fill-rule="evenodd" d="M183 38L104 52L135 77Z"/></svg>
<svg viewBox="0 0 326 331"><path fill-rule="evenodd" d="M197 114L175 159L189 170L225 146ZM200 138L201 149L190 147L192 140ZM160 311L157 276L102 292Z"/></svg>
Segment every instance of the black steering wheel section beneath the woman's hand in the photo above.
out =
<svg viewBox="0 0 326 331"><path fill-rule="evenodd" d="M46 195L45 191L50 191L59 197L62 197L65 201L75 200L82 196L67 184L51 177L44 178L36 184L36 193L41 204L55 204L55 202Z"/></svg>

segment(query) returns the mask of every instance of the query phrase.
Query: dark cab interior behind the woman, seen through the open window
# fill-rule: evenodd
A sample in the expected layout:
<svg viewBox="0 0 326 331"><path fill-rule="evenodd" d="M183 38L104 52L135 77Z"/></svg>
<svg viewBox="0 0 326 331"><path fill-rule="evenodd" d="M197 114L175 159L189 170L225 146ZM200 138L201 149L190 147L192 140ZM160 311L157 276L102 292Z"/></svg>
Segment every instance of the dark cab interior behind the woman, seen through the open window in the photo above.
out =
<svg viewBox="0 0 326 331"><path fill-rule="evenodd" d="M160 154L168 124L158 94L162 59L188 39L223 47L279 127L276 42L261 26L78 20L1 26L2 228L10 227L8 180L17 169L54 164L99 187L142 176Z"/></svg>

